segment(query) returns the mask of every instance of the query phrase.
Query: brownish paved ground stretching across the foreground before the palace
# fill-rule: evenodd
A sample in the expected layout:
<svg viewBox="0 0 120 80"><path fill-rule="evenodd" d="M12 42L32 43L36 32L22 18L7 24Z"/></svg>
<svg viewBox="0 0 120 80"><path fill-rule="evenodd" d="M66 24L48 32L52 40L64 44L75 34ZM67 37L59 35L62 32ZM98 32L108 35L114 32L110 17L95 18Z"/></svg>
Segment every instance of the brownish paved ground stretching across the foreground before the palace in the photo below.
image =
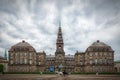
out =
<svg viewBox="0 0 120 80"><path fill-rule="evenodd" d="M39 74L0 74L0 80L120 80L120 75L39 75Z"/></svg>

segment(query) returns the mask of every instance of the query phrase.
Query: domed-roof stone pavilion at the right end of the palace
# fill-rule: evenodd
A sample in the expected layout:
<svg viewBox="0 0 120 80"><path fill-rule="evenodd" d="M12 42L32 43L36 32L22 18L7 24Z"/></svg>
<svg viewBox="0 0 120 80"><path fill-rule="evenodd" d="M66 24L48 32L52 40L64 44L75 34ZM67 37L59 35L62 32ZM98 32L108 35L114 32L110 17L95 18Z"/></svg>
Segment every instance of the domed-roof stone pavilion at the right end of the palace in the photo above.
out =
<svg viewBox="0 0 120 80"><path fill-rule="evenodd" d="M113 72L114 51L107 44L94 42L85 52L85 72Z"/></svg>

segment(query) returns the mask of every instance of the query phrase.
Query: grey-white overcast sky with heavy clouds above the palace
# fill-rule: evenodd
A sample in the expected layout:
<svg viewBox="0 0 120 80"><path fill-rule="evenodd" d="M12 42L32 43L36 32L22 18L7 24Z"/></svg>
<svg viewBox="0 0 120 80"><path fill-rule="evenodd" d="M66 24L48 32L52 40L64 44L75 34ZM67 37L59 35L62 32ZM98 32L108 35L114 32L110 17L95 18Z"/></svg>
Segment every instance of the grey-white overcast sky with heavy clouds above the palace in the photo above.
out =
<svg viewBox="0 0 120 80"><path fill-rule="evenodd" d="M59 21L66 54L100 40L120 60L120 0L0 0L0 55L22 40L54 54Z"/></svg>

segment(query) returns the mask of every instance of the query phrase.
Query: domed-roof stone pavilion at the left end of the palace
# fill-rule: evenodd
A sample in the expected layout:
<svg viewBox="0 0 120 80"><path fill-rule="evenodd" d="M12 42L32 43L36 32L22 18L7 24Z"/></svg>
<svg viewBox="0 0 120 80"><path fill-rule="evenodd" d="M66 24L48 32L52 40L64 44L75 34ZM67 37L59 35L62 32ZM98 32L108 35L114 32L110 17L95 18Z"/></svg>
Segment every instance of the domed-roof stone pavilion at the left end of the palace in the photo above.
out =
<svg viewBox="0 0 120 80"><path fill-rule="evenodd" d="M27 42L22 41L9 50L10 72L34 72L36 70L36 51Z"/></svg>

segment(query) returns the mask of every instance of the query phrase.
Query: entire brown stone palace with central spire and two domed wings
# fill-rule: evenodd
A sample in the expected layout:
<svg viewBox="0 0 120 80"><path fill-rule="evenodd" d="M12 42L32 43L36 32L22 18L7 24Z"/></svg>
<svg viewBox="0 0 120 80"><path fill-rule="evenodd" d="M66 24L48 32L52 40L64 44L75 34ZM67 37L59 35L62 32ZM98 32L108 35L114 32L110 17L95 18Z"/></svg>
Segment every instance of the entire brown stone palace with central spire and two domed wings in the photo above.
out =
<svg viewBox="0 0 120 80"><path fill-rule="evenodd" d="M56 51L47 55L36 50L26 41L13 45L9 50L9 72L113 72L114 51L111 46L97 40L85 52L66 55L61 25L59 25Z"/></svg>

